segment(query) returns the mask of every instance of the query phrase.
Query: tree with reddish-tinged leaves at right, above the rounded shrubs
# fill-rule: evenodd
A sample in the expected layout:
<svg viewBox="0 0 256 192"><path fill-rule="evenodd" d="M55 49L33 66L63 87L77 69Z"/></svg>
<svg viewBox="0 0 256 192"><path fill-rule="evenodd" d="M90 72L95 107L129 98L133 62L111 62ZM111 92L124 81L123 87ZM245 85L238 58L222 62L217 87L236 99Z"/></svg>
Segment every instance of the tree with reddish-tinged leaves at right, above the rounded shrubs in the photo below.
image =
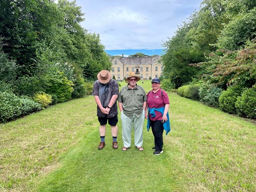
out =
<svg viewBox="0 0 256 192"><path fill-rule="evenodd" d="M229 85L250 88L256 84L256 42L251 42L242 50L224 49L211 53L206 62L193 64L205 66L203 77L223 89Z"/></svg>

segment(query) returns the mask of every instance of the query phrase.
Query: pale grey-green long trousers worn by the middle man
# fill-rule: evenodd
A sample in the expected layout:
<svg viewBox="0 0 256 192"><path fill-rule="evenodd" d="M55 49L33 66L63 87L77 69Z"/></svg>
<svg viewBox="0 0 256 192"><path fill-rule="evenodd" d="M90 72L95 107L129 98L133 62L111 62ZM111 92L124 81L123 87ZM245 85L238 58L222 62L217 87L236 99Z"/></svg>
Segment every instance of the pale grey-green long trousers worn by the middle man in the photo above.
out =
<svg viewBox="0 0 256 192"><path fill-rule="evenodd" d="M143 110L140 117L136 117L133 113L132 118L127 117L124 112L121 112L122 121L122 137L124 146L131 147L131 130L133 125L134 130L134 145L135 147L142 146L143 144L143 123L145 117L145 110Z"/></svg>

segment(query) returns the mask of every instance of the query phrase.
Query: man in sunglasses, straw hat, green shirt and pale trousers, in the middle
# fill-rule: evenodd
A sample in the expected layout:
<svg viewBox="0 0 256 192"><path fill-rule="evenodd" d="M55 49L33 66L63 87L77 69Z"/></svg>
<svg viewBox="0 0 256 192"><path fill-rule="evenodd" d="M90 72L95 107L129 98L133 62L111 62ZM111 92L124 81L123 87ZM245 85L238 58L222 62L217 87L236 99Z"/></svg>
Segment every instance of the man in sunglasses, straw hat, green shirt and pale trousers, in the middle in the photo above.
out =
<svg viewBox="0 0 256 192"><path fill-rule="evenodd" d="M120 90L118 96L118 106L121 111L122 137L124 142L123 151L131 147L131 129L134 130L134 144L139 151L143 151L143 123L146 108L145 90L137 85L140 80L138 75L131 72L125 79L127 86Z"/></svg>

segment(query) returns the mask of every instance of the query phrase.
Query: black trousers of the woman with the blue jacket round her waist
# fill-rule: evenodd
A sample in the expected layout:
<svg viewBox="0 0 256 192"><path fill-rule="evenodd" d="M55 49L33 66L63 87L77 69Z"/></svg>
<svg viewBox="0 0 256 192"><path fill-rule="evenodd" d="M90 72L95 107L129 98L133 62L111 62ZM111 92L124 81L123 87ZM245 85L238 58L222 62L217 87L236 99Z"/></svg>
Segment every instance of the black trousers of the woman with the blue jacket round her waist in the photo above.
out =
<svg viewBox="0 0 256 192"><path fill-rule="evenodd" d="M162 151L163 149L163 132L164 132L164 126L161 121L151 121L151 128L152 128L152 133L154 135L154 140L155 140L155 148L156 151Z"/></svg>

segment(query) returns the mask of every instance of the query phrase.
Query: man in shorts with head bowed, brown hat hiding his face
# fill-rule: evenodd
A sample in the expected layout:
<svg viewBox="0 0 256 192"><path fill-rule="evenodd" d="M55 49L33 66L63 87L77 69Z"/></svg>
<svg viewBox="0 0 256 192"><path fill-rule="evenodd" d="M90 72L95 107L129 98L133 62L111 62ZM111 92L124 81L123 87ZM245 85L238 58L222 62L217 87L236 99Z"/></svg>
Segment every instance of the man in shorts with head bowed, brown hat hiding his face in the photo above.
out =
<svg viewBox="0 0 256 192"><path fill-rule="evenodd" d="M112 75L107 70L101 70L97 75L97 81L93 84L92 95L97 103L97 117L100 123L100 144L98 149L105 146L105 134L107 122L110 124L112 133L112 147L118 149L118 106L117 98L119 94L118 83L111 78Z"/></svg>

